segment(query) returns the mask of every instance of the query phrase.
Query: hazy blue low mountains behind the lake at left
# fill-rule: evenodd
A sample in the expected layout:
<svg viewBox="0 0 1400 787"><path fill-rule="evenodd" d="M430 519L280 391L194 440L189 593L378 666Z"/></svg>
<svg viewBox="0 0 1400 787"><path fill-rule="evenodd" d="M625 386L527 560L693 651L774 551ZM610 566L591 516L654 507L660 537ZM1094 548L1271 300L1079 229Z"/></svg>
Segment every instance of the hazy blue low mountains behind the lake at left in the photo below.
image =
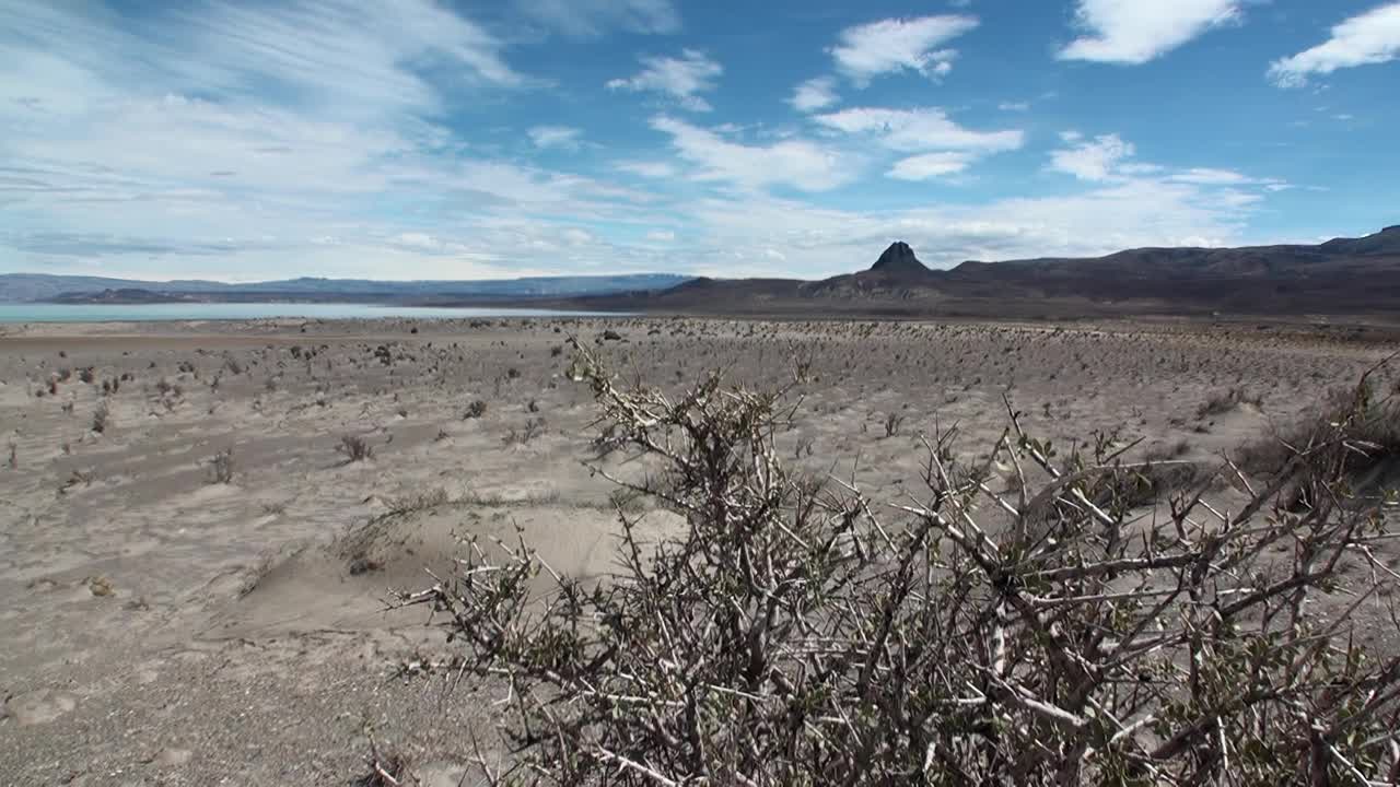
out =
<svg viewBox="0 0 1400 787"><path fill-rule="evenodd" d="M599 295L626 291L664 290L689 277L669 273L638 273L619 276L553 276L508 280L424 280L424 281L374 281L367 279L287 279L280 281L255 281L227 284L223 281L176 280L137 281L130 279L105 279L97 276L52 276L46 273L4 273L0 274L0 301L48 301L63 298L64 302L85 302L85 295L101 297L102 293L147 291L158 295L174 295L182 300L202 301L370 301L370 302L442 302L463 298L559 298L575 295ZM112 295L105 295L111 298ZM111 301L108 301L111 302ZM133 302L133 301L126 301ZM147 301L148 302L148 301Z"/></svg>

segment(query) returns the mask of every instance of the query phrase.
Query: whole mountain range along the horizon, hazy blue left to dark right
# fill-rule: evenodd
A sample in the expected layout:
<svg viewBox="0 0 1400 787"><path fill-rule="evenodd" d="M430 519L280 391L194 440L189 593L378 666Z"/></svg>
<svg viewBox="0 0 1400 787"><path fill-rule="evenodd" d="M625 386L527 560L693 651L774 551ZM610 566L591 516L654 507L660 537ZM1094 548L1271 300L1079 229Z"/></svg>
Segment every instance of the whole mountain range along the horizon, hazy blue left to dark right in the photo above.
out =
<svg viewBox="0 0 1400 787"><path fill-rule="evenodd" d="M1072 318L1375 315L1400 319L1400 225L1317 245L1142 248L931 270L907 244L858 273L799 279L573 276L498 281L291 279L256 284L0 274L0 301L351 301L658 314Z"/></svg>

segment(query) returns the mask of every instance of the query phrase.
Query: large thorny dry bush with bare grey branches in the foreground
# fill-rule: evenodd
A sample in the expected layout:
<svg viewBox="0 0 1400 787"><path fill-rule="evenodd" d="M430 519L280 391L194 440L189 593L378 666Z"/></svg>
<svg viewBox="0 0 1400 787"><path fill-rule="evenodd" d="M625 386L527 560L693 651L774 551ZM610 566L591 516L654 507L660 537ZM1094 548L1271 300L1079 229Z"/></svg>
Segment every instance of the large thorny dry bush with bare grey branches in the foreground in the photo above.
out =
<svg viewBox="0 0 1400 787"><path fill-rule="evenodd" d="M1189 492L1148 520L1123 493L1142 466L1103 440L1056 459L1009 408L984 462L935 434L923 493L878 504L784 466L785 391L711 375L671 398L575 368L622 450L666 468L615 483L689 527L648 545L619 511L620 574L545 595L529 545L472 542L400 598L459 648L440 669L508 685L514 760L493 781L1400 777L1400 658L1354 630L1400 578L1372 556L1394 535L1380 503L1338 472L1364 403L1267 486L1236 476L1238 511ZM1012 496L987 483L998 457ZM1280 493L1299 478L1324 493L1295 511Z"/></svg>

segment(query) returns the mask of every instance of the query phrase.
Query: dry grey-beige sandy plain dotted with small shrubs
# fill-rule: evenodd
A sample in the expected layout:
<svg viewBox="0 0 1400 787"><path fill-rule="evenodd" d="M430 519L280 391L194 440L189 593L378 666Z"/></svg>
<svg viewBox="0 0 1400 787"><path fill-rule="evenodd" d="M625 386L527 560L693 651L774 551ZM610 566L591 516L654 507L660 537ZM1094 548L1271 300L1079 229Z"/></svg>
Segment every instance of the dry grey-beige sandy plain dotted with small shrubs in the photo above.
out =
<svg viewBox="0 0 1400 787"><path fill-rule="evenodd" d="M382 599L424 585L426 566L449 567L458 538L517 527L556 567L609 570L613 490L584 464L596 413L563 374L568 335L616 330L622 340L602 342L616 367L666 385L717 365L776 382L792 357L811 357L784 451L886 500L918 483L918 434L935 423L959 423L969 455L990 447L1007 391L1057 444L1121 429L1145 438L1140 451L1208 461L1400 346L1238 325L6 328L6 784L344 784L365 773L367 725L424 783L456 784L498 692L444 697L398 678L441 634ZM1238 386L1260 403L1200 413ZM463 417L475 401L486 413ZM889 413L903 417L893 437ZM347 434L374 457L347 462L336 451ZM214 483L211 459L230 448L232 479ZM452 503L424 508L441 497ZM676 525L648 514L658 534Z"/></svg>

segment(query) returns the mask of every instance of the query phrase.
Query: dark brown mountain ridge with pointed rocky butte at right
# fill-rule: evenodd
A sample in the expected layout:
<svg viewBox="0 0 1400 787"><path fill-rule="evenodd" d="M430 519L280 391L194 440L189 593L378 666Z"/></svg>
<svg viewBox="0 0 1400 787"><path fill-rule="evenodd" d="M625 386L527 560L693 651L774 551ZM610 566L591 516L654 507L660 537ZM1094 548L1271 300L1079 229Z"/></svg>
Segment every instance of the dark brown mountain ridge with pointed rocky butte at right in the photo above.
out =
<svg viewBox="0 0 1400 787"><path fill-rule="evenodd" d="M886 316L1400 315L1400 227L1319 245L1140 248L1099 258L969 260L930 270L896 242L820 281L696 279L574 308Z"/></svg>

